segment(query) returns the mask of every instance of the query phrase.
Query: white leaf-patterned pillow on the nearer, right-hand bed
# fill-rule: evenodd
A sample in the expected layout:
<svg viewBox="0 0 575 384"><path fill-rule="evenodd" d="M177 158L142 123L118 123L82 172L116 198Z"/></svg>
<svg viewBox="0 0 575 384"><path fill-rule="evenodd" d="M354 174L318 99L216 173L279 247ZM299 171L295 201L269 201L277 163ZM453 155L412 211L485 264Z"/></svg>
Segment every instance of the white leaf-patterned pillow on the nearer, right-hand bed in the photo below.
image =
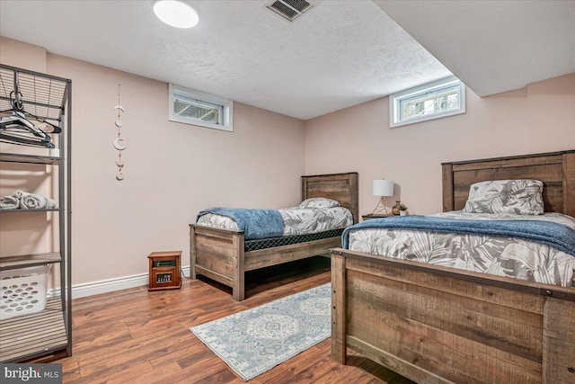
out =
<svg viewBox="0 0 575 384"><path fill-rule="evenodd" d="M539 180L496 180L474 183L464 212L541 215L544 211L543 183Z"/></svg>

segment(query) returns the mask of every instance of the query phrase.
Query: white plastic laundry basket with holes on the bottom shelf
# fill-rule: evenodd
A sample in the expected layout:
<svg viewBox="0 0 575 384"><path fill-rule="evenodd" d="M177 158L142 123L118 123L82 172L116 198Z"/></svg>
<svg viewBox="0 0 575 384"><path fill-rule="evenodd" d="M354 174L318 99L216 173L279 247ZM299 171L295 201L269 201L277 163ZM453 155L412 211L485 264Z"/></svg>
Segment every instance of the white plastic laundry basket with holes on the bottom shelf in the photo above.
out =
<svg viewBox="0 0 575 384"><path fill-rule="evenodd" d="M0 271L0 320L46 307L49 264Z"/></svg>

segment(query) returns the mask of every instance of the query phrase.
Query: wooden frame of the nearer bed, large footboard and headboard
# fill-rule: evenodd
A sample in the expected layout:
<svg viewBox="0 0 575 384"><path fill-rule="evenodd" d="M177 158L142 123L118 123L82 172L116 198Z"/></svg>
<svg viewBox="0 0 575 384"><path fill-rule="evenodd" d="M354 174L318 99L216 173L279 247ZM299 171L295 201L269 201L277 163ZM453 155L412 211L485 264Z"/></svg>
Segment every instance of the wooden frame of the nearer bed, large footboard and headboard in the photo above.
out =
<svg viewBox="0 0 575 384"><path fill-rule="evenodd" d="M575 150L445 163L444 210L472 183L544 182L575 217ZM347 348L419 383L575 383L575 288L332 250L332 358Z"/></svg>

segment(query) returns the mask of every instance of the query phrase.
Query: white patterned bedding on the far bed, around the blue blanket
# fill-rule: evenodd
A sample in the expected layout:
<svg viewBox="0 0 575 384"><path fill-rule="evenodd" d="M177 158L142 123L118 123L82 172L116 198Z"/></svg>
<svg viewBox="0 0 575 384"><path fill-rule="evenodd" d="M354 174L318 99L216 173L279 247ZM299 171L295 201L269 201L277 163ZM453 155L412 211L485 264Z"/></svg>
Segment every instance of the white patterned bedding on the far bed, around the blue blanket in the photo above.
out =
<svg viewBox="0 0 575 384"><path fill-rule="evenodd" d="M351 211L343 207L301 209L298 207L280 209L284 220L283 236L308 235L332 229L346 228L353 224ZM199 217L197 224L208 227L238 229L234 219L208 213Z"/></svg>

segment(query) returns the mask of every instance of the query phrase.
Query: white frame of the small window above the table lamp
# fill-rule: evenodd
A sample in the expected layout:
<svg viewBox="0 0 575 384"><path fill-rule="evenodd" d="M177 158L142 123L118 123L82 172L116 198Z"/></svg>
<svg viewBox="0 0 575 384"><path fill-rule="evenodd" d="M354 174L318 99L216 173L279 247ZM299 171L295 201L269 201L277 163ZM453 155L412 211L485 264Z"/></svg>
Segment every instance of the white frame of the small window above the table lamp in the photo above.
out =
<svg viewBox="0 0 575 384"><path fill-rule="evenodd" d="M411 118L409 120L401 120L402 102L420 97L424 94L434 92L439 94L442 90L454 86L456 86L457 88L457 94L460 101L459 109L447 112L427 114L421 117ZM401 127L403 125L408 124L414 124L421 121L440 119L461 113L465 113L465 85L456 76L449 76L440 79L438 81L434 81L432 83L415 86L413 88L406 89L405 91L398 92L396 94L390 94L389 96L389 125L391 128Z"/></svg>

